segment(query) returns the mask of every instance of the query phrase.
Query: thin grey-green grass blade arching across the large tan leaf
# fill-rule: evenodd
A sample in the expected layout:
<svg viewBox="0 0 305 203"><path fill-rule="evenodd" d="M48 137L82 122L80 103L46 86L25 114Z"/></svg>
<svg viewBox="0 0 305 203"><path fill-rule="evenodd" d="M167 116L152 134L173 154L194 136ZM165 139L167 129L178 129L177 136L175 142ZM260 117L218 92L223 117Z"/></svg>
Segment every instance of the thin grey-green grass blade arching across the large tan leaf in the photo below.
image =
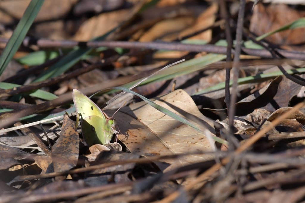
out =
<svg viewBox="0 0 305 203"><path fill-rule="evenodd" d="M130 89L127 89L127 88L124 88L124 87L113 87L111 89L120 89L122 91L125 91L125 92L128 92L128 93L131 93L131 94L134 94L138 97L140 97L143 101L145 101L146 103L148 103L150 106L152 106L153 108L155 108L156 110L162 112L163 114L166 114L172 118L174 118L175 120L177 121L180 121L181 123L184 123L184 124L187 124L189 126L191 126L192 128L196 129L197 131L200 131L201 133L205 133L204 131L202 131L199 127L197 127L195 124L191 123L190 121L186 120L185 118L175 114L174 112L164 108L164 107L161 107L160 105L152 102L151 100L147 99L146 97L138 94L138 93L135 93L133 91L131 91ZM222 144L228 144L227 141L219 138L219 137L216 137L216 136L212 136L212 138L216 141L216 142L220 142Z"/></svg>

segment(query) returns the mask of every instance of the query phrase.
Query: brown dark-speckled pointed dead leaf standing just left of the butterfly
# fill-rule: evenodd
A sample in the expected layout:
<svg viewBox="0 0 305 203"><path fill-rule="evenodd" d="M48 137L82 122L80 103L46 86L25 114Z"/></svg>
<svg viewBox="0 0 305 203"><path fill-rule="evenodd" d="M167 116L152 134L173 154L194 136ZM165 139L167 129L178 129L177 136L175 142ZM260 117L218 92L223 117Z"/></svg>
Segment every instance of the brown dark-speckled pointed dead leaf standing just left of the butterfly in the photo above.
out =
<svg viewBox="0 0 305 203"><path fill-rule="evenodd" d="M78 154L79 136L75 131L75 122L65 114L60 137L52 147L54 171L67 171L75 167Z"/></svg>

